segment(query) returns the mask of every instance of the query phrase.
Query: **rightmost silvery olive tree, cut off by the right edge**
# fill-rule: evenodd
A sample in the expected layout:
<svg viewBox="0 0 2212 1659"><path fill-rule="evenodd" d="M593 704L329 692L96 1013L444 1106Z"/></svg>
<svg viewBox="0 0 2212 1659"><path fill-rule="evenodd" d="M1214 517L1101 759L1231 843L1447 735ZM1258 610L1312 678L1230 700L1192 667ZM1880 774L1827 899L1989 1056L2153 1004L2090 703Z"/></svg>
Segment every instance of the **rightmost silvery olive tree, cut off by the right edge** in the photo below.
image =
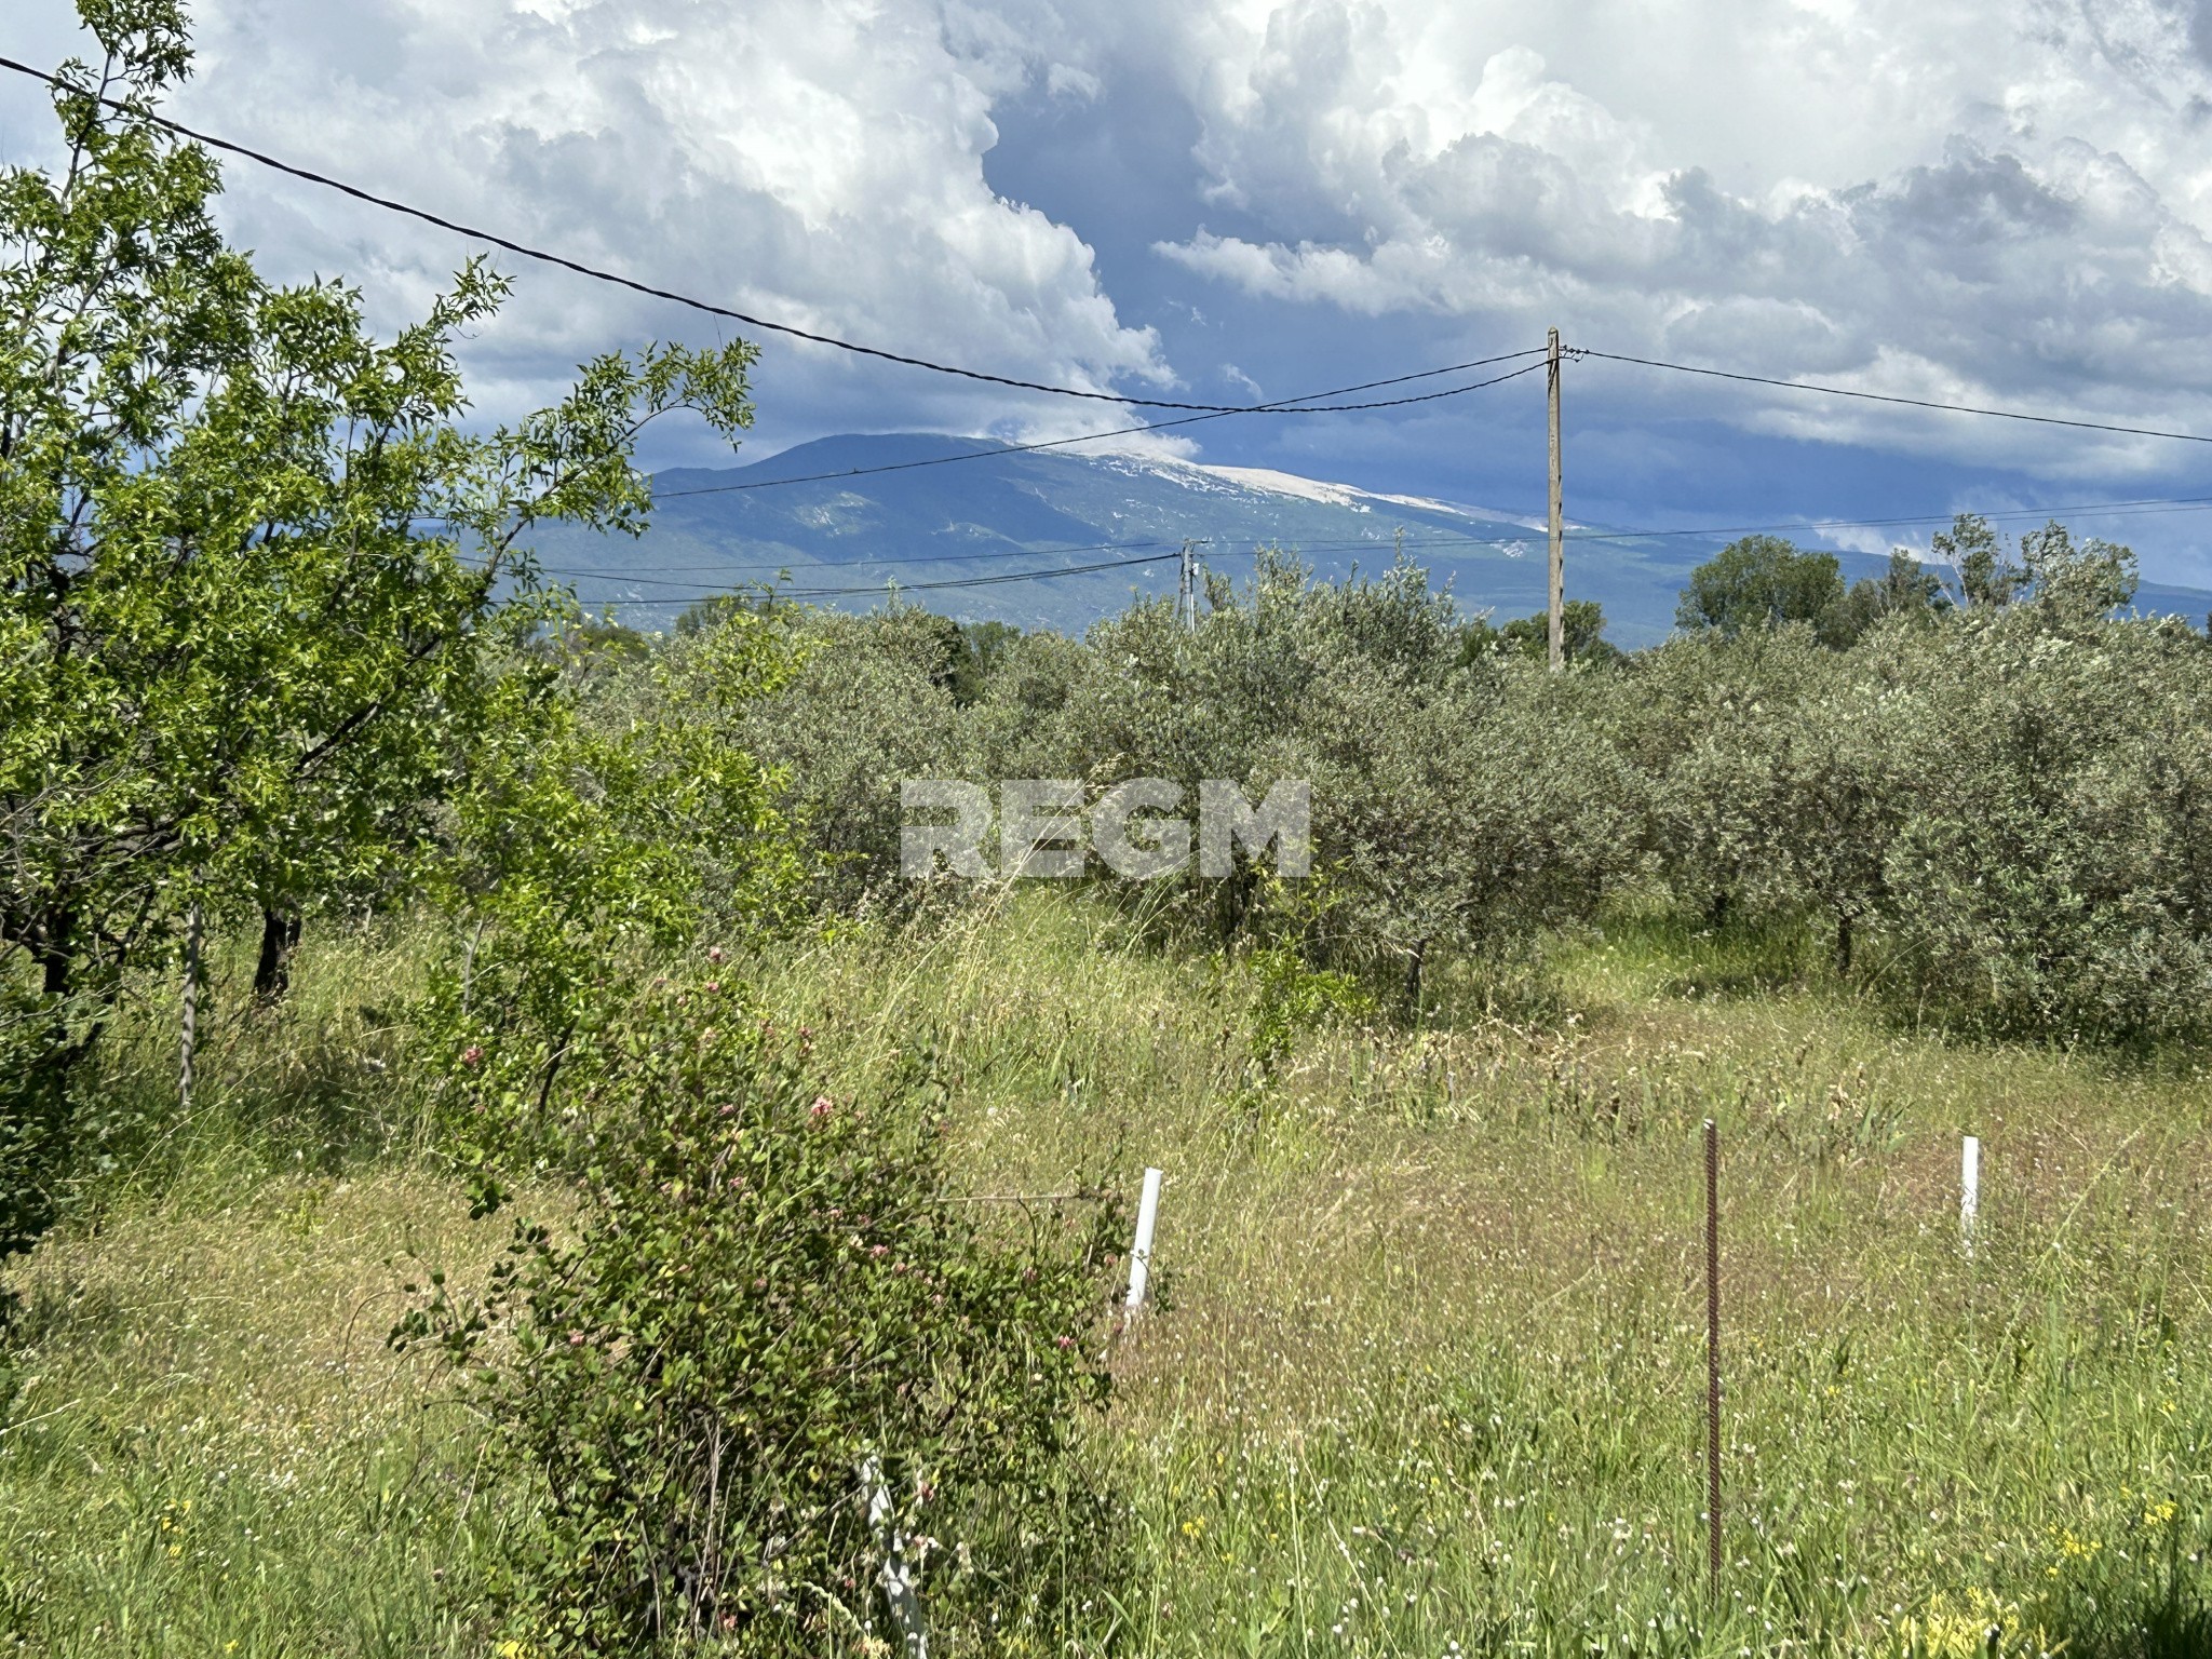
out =
<svg viewBox="0 0 2212 1659"><path fill-rule="evenodd" d="M2212 664L2106 622L2101 555L1911 668L1940 732L1887 858L1916 993L2059 1037L2201 1035L2212 1006ZM2086 613L2059 626L2075 595Z"/></svg>

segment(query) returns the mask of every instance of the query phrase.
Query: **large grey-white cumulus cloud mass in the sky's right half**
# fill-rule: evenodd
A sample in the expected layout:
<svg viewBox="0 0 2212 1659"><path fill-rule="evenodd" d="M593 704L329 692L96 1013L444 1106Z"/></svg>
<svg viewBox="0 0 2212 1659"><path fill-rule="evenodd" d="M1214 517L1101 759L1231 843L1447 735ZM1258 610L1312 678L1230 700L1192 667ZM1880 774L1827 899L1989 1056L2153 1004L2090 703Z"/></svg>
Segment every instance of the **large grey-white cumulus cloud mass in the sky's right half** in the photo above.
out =
<svg viewBox="0 0 2212 1659"><path fill-rule="evenodd" d="M1206 51L1197 164L1245 228L1159 252L1241 292L2212 425L2203 0L1201 11L1183 27ZM1849 405L1732 405L1792 436L2020 445ZM2150 456L2046 449L2075 469Z"/></svg>

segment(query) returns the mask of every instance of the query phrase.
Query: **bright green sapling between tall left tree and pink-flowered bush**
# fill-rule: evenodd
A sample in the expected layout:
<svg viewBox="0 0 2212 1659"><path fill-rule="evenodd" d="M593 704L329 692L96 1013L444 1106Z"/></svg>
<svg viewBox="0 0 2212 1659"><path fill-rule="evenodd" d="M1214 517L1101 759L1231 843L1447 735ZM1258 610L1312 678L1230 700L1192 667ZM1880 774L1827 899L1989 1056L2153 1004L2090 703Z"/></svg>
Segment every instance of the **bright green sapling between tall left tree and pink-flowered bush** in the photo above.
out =
<svg viewBox="0 0 2212 1659"><path fill-rule="evenodd" d="M487 1203L500 1170L575 1157L575 1084L555 1084L615 1040L626 975L701 933L794 920L810 869L785 779L739 741L794 672L774 622L745 613L597 721L551 668L502 681L451 801L431 883L451 933L414 1013Z"/></svg>

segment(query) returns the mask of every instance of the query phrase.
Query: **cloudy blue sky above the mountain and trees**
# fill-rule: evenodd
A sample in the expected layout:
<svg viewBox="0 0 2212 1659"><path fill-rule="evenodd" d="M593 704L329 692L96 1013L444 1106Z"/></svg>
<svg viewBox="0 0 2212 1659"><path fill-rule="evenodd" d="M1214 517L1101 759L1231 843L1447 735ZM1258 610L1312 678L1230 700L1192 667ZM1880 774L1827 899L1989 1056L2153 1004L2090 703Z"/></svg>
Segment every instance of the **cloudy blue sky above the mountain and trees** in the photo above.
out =
<svg viewBox="0 0 2212 1659"><path fill-rule="evenodd" d="M188 124L991 374L1248 403L1557 327L1624 356L2212 436L2212 0L201 0L195 40L168 106ZM64 0L0 13L9 58L91 51ZM51 164L42 91L0 82L0 159ZM226 184L226 230L265 274L343 276L385 330L471 252L248 161ZM495 263L515 299L465 345L484 420L557 398L599 352L730 336ZM741 460L838 431L1037 440L1144 418L750 338ZM2199 442L1593 358L1562 398L1579 522L2212 498ZM1542 374L1144 442L1544 500ZM677 425L644 460L728 451ZM2148 577L2212 586L2212 511L2066 518L2130 542Z"/></svg>

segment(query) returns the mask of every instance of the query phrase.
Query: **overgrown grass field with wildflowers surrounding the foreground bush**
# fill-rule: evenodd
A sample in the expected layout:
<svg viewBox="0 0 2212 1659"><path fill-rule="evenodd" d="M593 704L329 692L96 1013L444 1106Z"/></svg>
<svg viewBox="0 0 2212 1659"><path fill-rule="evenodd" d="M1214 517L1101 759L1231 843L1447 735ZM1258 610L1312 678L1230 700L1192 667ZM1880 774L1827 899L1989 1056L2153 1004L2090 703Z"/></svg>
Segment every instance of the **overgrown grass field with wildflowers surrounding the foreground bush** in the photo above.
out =
<svg viewBox="0 0 2212 1659"><path fill-rule="evenodd" d="M761 982L849 1082L933 1033L975 1192L1168 1170L1168 1301L1086 1447L1130 1579L1037 1652L2212 1652L2212 1082L1916 1035L1778 958L1624 925L1557 947L1542 1022L1444 984L1429 1029L1307 1031L1265 1079L1245 971L1060 900ZM418 1155L374 1015L405 975L403 942L312 951L223 1026L201 1117L13 1274L20 1646L482 1650L531 1493L383 1334L420 1259L504 1228ZM157 1031L117 1091L166 1086Z"/></svg>

